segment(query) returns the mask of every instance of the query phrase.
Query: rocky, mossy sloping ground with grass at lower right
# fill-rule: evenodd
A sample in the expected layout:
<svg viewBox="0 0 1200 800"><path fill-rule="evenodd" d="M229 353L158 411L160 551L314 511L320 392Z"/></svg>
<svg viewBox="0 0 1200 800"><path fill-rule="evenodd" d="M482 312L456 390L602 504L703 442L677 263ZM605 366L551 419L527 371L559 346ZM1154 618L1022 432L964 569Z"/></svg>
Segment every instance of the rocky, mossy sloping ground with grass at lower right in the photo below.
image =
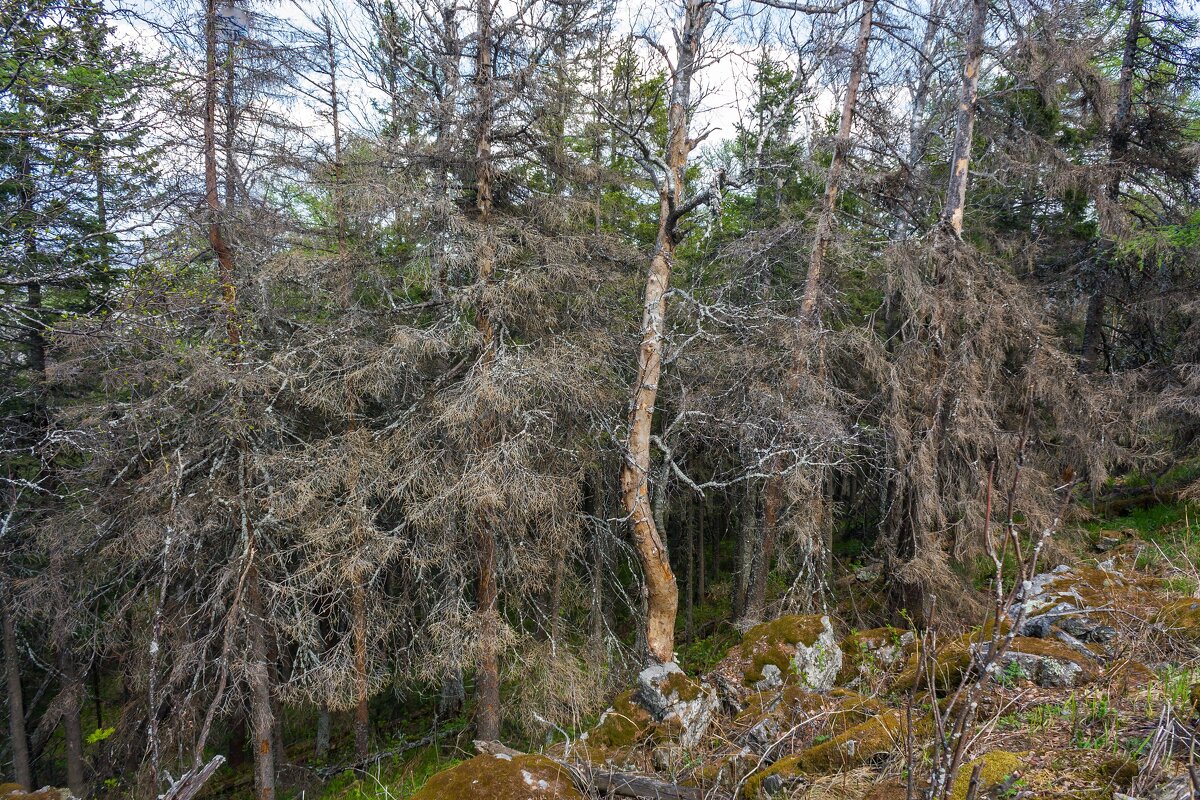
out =
<svg viewBox="0 0 1200 800"><path fill-rule="evenodd" d="M1076 525L1037 570L1034 602L980 684L965 765L944 796L1193 796L1200 507L1117 504L1122 511ZM312 742L295 741L289 757L302 765L286 771L299 788L283 796L542 800L606 796L595 789L607 787L618 796L899 800L910 776L912 796L924 796L937 757L934 709L968 680L990 640L968 624L988 604L990 576L976 572L966 579L978 606L968 602L958 615L966 621L943 625L936 643L924 639L924 662L919 637L878 624L880 565L847 560L827 618L784 616L740 638L726 626L690 642L683 673L643 673L569 740L526 742L541 754L503 746L480 754L466 716L431 740L430 709L418 709L365 770L314 765ZM622 787L622 775L637 777ZM224 770L209 788L214 798L248 796L248 766Z"/></svg>

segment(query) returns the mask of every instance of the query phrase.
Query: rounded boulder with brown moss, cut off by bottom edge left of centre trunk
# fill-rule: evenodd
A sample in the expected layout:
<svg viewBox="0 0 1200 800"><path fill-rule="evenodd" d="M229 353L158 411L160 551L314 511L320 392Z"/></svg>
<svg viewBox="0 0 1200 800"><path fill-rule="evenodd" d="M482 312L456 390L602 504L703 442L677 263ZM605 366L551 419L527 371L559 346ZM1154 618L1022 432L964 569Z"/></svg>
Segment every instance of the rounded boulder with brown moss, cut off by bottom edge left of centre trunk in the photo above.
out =
<svg viewBox="0 0 1200 800"><path fill-rule="evenodd" d="M583 800L545 756L476 756L438 772L413 800Z"/></svg>

